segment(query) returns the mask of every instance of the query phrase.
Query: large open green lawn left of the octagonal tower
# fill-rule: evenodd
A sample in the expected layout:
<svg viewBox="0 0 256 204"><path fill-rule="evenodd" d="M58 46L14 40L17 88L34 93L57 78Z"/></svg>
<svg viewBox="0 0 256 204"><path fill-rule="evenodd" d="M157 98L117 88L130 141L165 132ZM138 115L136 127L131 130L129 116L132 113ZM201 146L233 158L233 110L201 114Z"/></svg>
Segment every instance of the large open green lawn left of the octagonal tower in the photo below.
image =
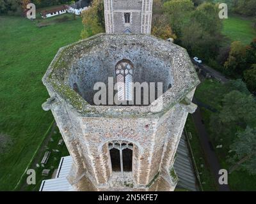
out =
<svg viewBox="0 0 256 204"><path fill-rule="evenodd" d="M42 77L60 47L80 39L81 18L30 21L0 17L0 135L10 144L0 157L0 190L13 190L53 117L42 110L49 97Z"/></svg>

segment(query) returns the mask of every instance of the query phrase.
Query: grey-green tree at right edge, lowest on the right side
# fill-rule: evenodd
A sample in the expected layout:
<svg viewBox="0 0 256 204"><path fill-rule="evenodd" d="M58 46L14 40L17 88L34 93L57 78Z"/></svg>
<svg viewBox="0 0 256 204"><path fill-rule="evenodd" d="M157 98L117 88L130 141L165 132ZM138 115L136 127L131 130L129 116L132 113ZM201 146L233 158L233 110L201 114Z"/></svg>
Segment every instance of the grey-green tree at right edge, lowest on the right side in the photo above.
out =
<svg viewBox="0 0 256 204"><path fill-rule="evenodd" d="M251 175L256 174L256 128L249 126L243 131L236 133L236 140L230 149L234 152L234 156L229 159L233 164L230 173L242 168Z"/></svg>

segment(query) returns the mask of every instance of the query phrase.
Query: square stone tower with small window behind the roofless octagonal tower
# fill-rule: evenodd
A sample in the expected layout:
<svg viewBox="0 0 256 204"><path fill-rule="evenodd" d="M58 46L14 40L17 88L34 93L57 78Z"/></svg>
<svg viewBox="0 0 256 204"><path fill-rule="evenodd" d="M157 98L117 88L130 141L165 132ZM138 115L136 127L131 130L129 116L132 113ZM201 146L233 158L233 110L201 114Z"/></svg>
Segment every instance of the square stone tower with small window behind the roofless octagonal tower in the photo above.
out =
<svg viewBox="0 0 256 204"><path fill-rule="evenodd" d="M107 34L150 34L153 0L104 0Z"/></svg>

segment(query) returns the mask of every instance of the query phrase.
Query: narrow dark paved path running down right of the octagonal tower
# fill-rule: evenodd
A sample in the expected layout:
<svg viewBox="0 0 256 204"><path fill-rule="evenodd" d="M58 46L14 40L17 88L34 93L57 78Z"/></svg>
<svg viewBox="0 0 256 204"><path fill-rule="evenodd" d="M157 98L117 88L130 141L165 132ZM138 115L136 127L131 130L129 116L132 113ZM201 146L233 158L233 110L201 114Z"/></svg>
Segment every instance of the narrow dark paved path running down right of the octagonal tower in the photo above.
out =
<svg viewBox="0 0 256 204"><path fill-rule="evenodd" d="M193 99L193 102L196 103L195 98ZM214 177L216 179L216 183L218 184L218 190L219 191L230 191L230 188L228 185L220 185L218 182L219 177L220 177L220 175L218 173L219 173L219 170L221 169L221 166L220 166L218 158L214 152L214 148L212 147L211 140L209 139L209 135L207 134L205 126L202 122L202 115L200 113L200 108L197 108L196 112L193 113L192 116L193 116L193 121L196 126L196 130L198 131L200 143L204 150L204 154L205 154L207 163L209 164L212 174L214 175Z"/></svg>

